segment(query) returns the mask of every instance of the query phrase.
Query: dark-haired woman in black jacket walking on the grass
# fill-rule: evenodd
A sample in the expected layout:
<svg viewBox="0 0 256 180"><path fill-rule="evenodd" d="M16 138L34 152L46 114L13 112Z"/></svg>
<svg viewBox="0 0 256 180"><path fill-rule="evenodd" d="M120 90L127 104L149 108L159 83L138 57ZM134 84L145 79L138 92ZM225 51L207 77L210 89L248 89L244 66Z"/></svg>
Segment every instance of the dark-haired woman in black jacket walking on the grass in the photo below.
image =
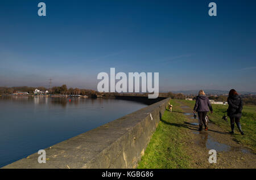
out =
<svg viewBox="0 0 256 180"><path fill-rule="evenodd" d="M229 104L229 108L227 112L230 118L230 126L231 126L230 134L234 134L234 123L236 122L237 127L241 132L241 135L243 135L244 133L242 131L241 123L240 123L240 118L242 117L243 102L242 102L242 98L238 95L235 89L231 89L229 91L228 104Z"/></svg>

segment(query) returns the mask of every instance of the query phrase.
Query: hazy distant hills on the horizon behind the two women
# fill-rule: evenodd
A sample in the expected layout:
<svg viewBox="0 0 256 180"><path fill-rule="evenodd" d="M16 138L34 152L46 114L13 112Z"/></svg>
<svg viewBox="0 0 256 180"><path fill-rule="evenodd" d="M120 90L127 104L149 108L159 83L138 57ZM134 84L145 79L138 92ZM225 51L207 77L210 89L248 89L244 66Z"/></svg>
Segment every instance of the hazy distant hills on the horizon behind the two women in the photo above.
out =
<svg viewBox="0 0 256 180"><path fill-rule="evenodd" d="M183 93L183 95L197 95L200 90L187 90L187 91L171 91L173 93ZM207 95L226 95L229 93L229 91L223 91L223 90L204 90L205 94ZM256 95L256 92L246 92L241 91L238 92L240 95Z"/></svg>

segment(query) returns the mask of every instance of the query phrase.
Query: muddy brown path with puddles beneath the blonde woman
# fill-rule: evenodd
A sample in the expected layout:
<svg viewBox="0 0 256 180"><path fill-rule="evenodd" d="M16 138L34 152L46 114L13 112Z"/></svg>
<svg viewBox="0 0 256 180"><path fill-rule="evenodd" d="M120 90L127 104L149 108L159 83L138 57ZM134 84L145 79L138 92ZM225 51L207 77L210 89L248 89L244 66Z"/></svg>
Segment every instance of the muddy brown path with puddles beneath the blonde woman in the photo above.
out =
<svg viewBox="0 0 256 180"><path fill-rule="evenodd" d="M256 155L238 144L232 135L209 122L208 131L198 131L198 119L193 117L192 109L178 101L187 121L183 123L188 139L188 154L192 158L192 168L256 168ZM209 150L217 151L217 163L208 161Z"/></svg>

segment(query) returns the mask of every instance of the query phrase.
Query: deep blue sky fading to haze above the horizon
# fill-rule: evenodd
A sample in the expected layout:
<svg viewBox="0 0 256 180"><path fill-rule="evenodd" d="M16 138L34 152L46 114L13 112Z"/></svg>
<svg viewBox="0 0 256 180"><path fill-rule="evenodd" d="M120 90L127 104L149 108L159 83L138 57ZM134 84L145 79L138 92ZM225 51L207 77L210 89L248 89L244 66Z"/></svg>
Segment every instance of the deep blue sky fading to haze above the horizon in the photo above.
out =
<svg viewBox="0 0 256 180"><path fill-rule="evenodd" d="M47 16L38 16L45 2ZM217 16L208 15L216 2ZM159 72L160 91L256 91L255 1L1 1L0 86L97 89Z"/></svg>

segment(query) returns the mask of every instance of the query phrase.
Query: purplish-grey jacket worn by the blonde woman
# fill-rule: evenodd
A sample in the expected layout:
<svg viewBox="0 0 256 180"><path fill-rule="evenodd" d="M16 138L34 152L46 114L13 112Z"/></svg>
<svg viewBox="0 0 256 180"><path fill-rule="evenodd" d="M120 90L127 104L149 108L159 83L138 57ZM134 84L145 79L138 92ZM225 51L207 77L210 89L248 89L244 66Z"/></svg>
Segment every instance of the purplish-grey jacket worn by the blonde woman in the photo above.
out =
<svg viewBox="0 0 256 180"><path fill-rule="evenodd" d="M205 95L199 95L196 97L196 104L194 106L196 112L212 112L212 105L210 104L209 98Z"/></svg>

